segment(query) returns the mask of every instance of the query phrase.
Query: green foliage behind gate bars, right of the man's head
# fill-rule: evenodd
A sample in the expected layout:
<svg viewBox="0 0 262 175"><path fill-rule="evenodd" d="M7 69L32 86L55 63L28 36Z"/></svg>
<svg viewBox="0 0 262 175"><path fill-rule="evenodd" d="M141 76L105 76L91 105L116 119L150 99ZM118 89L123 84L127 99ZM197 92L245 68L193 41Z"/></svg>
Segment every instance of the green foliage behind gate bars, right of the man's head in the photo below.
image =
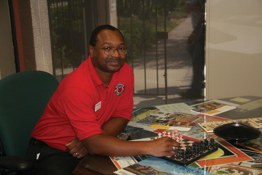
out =
<svg viewBox="0 0 262 175"><path fill-rule="evenodd" d="M156 44L156 32L171 31L189 15L184 11L185 0L118 0L117 4L118 28L132 48L128 63Z"/></svg>

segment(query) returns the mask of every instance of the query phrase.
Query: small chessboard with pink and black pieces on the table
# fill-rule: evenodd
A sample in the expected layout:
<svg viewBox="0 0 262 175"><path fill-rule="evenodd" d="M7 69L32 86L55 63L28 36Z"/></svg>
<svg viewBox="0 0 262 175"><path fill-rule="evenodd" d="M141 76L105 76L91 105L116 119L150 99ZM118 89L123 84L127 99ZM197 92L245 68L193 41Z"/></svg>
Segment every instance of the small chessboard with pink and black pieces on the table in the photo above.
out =
<svg viewBox="0 0 262 175"><path fill-rule="evenodd" d="M177 130L174 130L172 133L167 133L164 131L159 133L158 137L155 137L155 139L161 137L171 137L180 144L176 156L161 157L162 159L175 162L180 165L188 165L218 149L216 146L214 146L213 138L209 141L204 139L204 141L201 140L199 142L195 142L193 140L183 138L182 133L180 132L178 135L177 132Z"/></svg>

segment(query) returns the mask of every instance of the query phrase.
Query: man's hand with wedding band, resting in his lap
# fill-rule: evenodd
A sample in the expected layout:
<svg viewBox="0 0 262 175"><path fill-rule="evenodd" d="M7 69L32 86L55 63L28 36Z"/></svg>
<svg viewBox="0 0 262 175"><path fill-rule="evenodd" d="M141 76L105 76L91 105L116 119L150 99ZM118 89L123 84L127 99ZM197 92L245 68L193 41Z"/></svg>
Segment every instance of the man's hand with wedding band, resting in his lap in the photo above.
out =
<svg viewBox="0 0 262 175"><path fill-rule="evenodd" d="M81 159L87 153L86 147L78 140L78 138L72 139L68 144L65 145L66 149L69 154L71 154L74 158Z"/></svg>

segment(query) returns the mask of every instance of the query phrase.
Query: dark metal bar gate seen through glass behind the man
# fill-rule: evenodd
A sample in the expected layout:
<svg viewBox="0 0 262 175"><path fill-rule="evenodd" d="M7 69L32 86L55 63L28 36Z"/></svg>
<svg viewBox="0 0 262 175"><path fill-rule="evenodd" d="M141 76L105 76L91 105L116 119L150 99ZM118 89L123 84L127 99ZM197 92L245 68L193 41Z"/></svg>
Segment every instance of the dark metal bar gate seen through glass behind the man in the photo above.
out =
<svg viewBox="0 0 262 175"><path fill-rule="evenodd" d="M88 56L91 31L104 14L107 0L48 0L54 75L60 81ZM181 84L191 67L186 40L192 32L185 0L117 0L118 29L129 48L127 63L134 71L134 95L169 95L190 84ZM101 13L98 6L105 7ZM101 14L100 14L101 13ZM101 22L100 22L101 23ZM180 82L179 82L180 81ZM178 83L179 82L179 83ZM172 98L172 97L171 97ZM156 98L157 99L157 98Z"/></svg>

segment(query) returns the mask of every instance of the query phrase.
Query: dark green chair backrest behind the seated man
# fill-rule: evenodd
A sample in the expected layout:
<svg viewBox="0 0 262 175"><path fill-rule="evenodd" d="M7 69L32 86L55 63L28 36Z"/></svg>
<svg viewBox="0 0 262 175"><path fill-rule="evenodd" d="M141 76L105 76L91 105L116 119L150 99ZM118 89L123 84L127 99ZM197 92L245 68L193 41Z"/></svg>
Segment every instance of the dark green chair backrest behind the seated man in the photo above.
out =
<svg viewBox="0 0 262 175"><path fill-rule="evenodd" d="M43 71L20 72L0 80L3 155L25 155L31 131L58 84L53 75Z"/></svg>

